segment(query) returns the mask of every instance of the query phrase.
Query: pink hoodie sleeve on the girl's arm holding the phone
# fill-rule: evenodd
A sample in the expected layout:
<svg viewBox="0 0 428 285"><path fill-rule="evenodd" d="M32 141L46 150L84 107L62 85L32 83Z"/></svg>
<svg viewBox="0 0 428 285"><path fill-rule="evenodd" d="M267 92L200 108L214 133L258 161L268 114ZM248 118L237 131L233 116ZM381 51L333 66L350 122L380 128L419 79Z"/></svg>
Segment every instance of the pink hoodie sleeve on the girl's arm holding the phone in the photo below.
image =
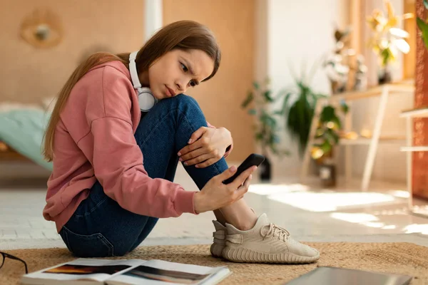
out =
<svg viewBox="0 0 428 285"><path fill-rule="evenodd" d="M103 74L103 116L91 121L93 169L104 192L124 209L150 217L195 214L195 192L168 180L151 178L143 167L143 153L133 134L133 90L109 72Z"/></svg>

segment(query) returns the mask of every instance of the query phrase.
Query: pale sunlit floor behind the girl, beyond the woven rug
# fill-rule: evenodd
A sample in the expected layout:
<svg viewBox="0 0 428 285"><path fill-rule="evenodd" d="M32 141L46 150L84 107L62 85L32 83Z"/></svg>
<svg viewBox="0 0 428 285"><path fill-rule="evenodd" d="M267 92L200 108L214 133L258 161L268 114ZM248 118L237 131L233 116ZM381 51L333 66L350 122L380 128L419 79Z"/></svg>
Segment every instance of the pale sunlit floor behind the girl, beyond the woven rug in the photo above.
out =
<svg viewBox="0 0 428 285"><path fill-rule="evenodd" d="M181 166L175 182L196 189ZM372 182L370 191L360 192L357 182L340 183L332 190L316 187L315 182L301 185L277 177L263 184L256 178L245 199L256 213L265 212L302 242L413 242L428 247L428 219L409 214L405 185ZM43 185L1 188L0 250L65 247L54 223L41 216ZM209 244L213 218L208 212L161 219L141 245Z"/></svg>

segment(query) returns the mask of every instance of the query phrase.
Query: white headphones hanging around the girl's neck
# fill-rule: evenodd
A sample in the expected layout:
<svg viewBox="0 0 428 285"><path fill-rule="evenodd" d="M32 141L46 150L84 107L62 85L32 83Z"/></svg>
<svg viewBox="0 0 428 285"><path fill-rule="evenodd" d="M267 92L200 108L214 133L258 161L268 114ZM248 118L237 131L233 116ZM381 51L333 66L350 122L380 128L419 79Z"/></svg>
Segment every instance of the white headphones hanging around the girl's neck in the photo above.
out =
<svg viewBox="0 0 428 285"><path fill-rule="evenodd" d="M138 51L134 51L129 55L129 72L131 73L133 87L138 90L138 103L140 104L140 109L143 112L148 112L156 103L158 103L158 99L153 96L150 88L141 87L136 66L137 53Z"/></svg>

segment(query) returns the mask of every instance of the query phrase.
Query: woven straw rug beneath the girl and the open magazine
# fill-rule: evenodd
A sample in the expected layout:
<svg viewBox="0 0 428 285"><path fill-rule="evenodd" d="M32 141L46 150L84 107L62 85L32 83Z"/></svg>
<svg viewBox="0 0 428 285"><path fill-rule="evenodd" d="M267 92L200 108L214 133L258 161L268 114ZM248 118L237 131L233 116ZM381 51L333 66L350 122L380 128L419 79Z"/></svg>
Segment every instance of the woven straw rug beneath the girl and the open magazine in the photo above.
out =
<svg viewBox="0 0 428 285"><path fill-rule="evenodd" d="M233 272L221 284L285 284L317 266L391 272L414 276L411 284L428 284L428 247L410 243L306 243L320 251L317 263L304 265L237 264L210 256L209 245L138 247L126 257L114 259L163 259L205 266L228 266ZM8 251L24 259L29 271L75 259L67 249L19 249ZM19 284L23 264L7 259L0 269L0 284Z"/></svg>

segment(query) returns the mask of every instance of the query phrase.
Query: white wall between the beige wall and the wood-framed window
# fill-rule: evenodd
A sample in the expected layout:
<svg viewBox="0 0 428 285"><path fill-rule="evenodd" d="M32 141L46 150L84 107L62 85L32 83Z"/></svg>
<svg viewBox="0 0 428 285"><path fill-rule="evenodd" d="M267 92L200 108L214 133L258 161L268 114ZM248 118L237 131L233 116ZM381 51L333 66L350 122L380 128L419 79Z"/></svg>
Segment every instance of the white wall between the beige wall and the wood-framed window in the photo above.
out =
<svg viewBox="0 0 428 285"><path fill-rule="evenodd" d="M302 0L297 5L295 1L258 1L260 7L256 19L266 19L267 25L256 27L258 34L267 35L266 73L272 79L275 92L293 84L292 71L300 74L303 69L307 73L315 61L332 50L335 24L342 28L347 24L348 2ZM261 64L263 61L258 58L257 62ZM306 68L303 68L305 62ZM315 73L311 86L317 92L330 92L329 82L321 69ZM275 160L274 175L298 175L301 160L297 145L285 133L282 133L282 145L292 154L284 160Z"/></svg>

